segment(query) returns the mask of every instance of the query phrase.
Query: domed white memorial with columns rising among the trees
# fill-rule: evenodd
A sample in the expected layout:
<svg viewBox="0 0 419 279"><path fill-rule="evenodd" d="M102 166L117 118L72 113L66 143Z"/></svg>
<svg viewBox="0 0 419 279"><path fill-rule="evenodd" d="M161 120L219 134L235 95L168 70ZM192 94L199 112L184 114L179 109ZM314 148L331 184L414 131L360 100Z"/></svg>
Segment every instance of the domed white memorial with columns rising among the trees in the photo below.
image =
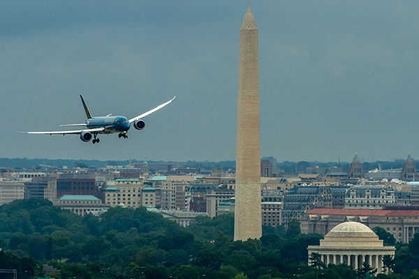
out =
<svg viewBox="0 0 419 279"><path fill-rule="evenodd" d="M383 271L383 256L395 256L395 246L383 246L372 229L358 222L337 225L321 239L320 246L309 246L307 250L309 257L312 252L320 254L325 265L347 264L356 270L367 262L378 273Z"/></svg>

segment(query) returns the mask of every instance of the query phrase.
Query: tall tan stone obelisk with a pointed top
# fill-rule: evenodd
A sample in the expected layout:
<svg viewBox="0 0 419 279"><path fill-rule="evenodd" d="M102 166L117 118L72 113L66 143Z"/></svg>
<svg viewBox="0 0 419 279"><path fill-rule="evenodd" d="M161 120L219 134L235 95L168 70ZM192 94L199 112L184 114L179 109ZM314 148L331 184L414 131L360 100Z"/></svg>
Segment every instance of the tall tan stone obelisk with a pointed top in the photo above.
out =
<svg viewBox="0 0 419 279"><path fill-rule="evenodd" d="M261 235L258 29L248 8L240 29L234 240Z"/></svg>

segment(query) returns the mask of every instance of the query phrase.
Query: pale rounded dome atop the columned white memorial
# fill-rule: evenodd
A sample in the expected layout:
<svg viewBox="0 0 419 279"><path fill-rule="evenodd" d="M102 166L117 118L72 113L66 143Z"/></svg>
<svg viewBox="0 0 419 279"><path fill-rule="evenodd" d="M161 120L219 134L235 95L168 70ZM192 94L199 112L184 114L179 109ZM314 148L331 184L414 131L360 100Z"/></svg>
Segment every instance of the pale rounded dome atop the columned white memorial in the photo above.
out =
<svg viewBox="0 0 419 279"><path fill-rule="evenodd" d="M330 237L339 237L339 238L364 238L364 237L374 237L377 235L369 227L362 223L358 222L345 222L337 225L326 234L328 238Z"/></svg>

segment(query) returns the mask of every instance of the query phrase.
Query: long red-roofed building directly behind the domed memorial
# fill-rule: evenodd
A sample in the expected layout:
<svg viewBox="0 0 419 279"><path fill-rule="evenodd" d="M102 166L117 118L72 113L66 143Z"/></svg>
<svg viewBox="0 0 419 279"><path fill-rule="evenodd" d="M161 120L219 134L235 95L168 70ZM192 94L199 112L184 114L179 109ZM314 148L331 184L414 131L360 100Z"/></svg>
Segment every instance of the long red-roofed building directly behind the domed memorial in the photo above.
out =
<svg viewBox="0 0 419 279"><path fill-rule="evenodd" d="M382 227L396 241L409 243L419 232L418 206L388 206L383 209L311 209L300 220L303 234L328 234L343 222L355 221L370 229Z"/></svg>

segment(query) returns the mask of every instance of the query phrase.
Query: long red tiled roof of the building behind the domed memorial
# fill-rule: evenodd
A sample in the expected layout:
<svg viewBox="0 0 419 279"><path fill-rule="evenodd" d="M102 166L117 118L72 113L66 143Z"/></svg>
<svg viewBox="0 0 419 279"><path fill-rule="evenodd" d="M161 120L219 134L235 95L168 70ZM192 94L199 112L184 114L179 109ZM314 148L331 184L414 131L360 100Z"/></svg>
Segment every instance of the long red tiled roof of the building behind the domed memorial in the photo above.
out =
<svg viewBox="0 0 419 279"><path fill-rule="evenodd" d="M419 217L419 210L392 209L312 209L307 214Z"/></svg>

